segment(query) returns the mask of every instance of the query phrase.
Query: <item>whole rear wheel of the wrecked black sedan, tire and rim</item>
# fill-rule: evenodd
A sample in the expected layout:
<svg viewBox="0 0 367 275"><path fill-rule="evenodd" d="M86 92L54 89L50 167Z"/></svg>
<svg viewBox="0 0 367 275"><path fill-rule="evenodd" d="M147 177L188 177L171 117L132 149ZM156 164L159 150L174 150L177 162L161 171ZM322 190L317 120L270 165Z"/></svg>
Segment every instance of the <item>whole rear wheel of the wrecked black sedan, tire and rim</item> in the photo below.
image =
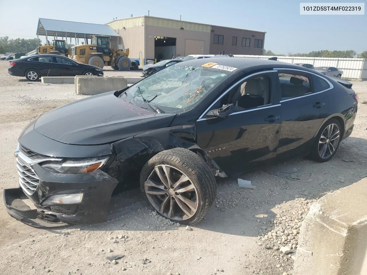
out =
<svg viewBox="0 0 367 275"><path fill-rule="evenodd" d="M339 147L341 134L339 121L334 118L327 121L316 136L310 157L317 162L331 159Z"/></svg>

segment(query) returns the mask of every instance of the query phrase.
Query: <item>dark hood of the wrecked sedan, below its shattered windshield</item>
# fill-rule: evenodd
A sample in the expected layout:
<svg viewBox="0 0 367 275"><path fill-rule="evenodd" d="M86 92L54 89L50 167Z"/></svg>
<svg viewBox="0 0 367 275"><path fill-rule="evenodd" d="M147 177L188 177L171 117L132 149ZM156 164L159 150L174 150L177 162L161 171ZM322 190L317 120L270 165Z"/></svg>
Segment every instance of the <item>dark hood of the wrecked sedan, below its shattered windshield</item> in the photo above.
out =
<svg viewBox="0 0 367 275"><path fill-rule="evenodd" d="M174 117L127 103L112 91L48 111L37 119L34 130L62 143L106 144L165 128Z"/></svg>

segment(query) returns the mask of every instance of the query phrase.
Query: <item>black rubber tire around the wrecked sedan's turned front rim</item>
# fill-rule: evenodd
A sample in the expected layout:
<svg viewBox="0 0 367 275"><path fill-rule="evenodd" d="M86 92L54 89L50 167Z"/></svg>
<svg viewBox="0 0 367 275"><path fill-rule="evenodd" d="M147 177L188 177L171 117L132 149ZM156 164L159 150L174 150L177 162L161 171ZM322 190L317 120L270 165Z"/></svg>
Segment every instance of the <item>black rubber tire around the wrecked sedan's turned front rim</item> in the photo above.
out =
<svg viewBox="0 0 367 275"><path fill-rule="evenodd" d="M157 165L169 165L178 169L183 172L195 186L197 194L197 209L195 214L193 214L189 219L183 220L168 218L164 214L160 213L159 209L155 208L149 201L148 195L145 192L145 182L148 180L148 177ZM215 176L208 164L203 158L200 158L194 152L184 148L173 148L161 151L149 159L141 170L140 187L144 197L148 200L153 209L157 211L157 213L172 221L182 224L196 224L202 220L214 202L217 193Z"/></svg>

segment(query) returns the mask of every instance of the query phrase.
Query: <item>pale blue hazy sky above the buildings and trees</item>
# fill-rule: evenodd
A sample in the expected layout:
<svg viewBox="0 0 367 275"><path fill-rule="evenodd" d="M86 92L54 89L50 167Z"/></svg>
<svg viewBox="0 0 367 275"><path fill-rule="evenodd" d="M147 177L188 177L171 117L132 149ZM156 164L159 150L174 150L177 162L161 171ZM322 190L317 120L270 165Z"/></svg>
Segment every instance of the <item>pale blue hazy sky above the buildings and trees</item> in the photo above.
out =
<svg viewBox="0 0 367 275"><path fill-rule="evenodd" d="M300 2L306 1L77 0L63 1L59 6L59 1L42 4L42 1L0 0L0 36L36 38L38 18L105 24L115 17L148 15L149 10L150 16L155 17L179 19L181 15L184 21L266 31L264 48L276 54L322 49L367 51L366 14L300 15Z"/></svg>

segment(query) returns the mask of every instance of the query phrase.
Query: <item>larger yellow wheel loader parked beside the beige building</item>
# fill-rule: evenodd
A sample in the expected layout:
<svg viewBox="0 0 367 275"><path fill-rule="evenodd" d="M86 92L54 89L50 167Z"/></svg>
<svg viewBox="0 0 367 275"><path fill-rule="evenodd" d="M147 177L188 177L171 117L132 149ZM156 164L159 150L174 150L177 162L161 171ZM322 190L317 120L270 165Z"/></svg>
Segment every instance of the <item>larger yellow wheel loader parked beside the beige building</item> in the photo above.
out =
<svg viewBox="0 0 367 275"><path fill-rule="evenodd" d="M77 45L71 49L71 59L84 64L100 67L111 66L115 70L137 69L138 65L128 58L129 49L110 48L110 37L91 36L91 44Z"/></svg>

